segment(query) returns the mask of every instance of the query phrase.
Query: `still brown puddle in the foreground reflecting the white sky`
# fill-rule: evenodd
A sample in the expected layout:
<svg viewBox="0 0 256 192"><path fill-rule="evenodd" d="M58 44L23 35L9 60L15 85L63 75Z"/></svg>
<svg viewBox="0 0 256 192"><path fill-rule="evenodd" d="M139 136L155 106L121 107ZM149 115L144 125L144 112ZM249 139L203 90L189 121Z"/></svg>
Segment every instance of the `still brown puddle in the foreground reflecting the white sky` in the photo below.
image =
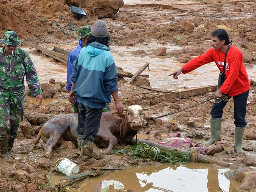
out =
<svg viewBox="0 0 256 192"><path fill-rule="evenodd" d="M70 192L109 192L134 190L136 192L217 192L232 191L240 183L228 180L224 173L229 169L217 169L201 163L133 167L90 177L76 185ZM64 176L50 178L52 184Z"/></svg>

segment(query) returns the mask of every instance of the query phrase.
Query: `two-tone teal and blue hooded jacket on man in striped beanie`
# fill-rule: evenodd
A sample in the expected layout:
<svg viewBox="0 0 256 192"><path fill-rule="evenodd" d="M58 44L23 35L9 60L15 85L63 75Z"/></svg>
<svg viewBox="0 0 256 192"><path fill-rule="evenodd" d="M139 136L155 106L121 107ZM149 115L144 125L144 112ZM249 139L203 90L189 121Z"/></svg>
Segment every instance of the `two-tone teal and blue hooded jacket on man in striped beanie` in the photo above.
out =
<svg viewBox="0 0 256 192"><path fill-rule="evenodd" d="M76 100L95 109L111 102L111 92L117 87L117 69L109 48L92 42L82 48L73 63L72 82L75 83Z"/></svg>

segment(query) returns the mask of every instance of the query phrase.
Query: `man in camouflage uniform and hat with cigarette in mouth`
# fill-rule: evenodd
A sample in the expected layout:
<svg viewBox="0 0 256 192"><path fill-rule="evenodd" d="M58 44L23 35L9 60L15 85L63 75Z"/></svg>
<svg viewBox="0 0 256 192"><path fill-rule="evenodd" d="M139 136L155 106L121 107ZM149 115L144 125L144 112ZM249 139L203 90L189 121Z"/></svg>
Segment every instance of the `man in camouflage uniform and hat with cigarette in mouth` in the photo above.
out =
<svg viewBox="0 0 256 192"><path fill-rule="evenodd" d="M30 94L42 103L42 90L30 55L17 46L21 43L15 31L6 31L0 44L0 155L11 161L8 151L13 148L19 123L23 120L25 85Z"/></svg>

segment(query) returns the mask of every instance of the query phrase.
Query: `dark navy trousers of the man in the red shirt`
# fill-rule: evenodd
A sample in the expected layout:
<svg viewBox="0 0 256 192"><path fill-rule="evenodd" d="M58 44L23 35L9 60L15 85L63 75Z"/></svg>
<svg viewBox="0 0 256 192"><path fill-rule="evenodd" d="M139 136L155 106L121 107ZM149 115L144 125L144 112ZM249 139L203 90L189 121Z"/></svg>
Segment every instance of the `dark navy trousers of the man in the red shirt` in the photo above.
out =
<svg viewBox="0 0 256 192"><path fill-rule="evenodd" d="M245 114L246 114L246 105L247 105L247 98L249 95L249 90L241 93L239 95L233 96L234 100L234 124L236 127L245 127L247 122L245 121ZM231 97L228 97L228 100ZM220 102L214 103L211 108L211 118L221 118L223 114L223 109L226 106L227 102Z"/></svg>

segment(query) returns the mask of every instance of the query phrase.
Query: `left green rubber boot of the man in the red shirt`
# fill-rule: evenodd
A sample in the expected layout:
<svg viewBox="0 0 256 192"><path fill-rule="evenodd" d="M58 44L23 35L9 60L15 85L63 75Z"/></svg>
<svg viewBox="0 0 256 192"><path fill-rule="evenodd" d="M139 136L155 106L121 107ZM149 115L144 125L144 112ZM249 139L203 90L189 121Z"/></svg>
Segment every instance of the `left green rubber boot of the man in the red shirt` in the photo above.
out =
<svg viewBox="0 0 256 192"><path fill-rule="evenodd" d="M206 141L205 145L211 145L215 141L221 140L221 118L210 119L211 124L211 138L210 140Z"/></svg>

